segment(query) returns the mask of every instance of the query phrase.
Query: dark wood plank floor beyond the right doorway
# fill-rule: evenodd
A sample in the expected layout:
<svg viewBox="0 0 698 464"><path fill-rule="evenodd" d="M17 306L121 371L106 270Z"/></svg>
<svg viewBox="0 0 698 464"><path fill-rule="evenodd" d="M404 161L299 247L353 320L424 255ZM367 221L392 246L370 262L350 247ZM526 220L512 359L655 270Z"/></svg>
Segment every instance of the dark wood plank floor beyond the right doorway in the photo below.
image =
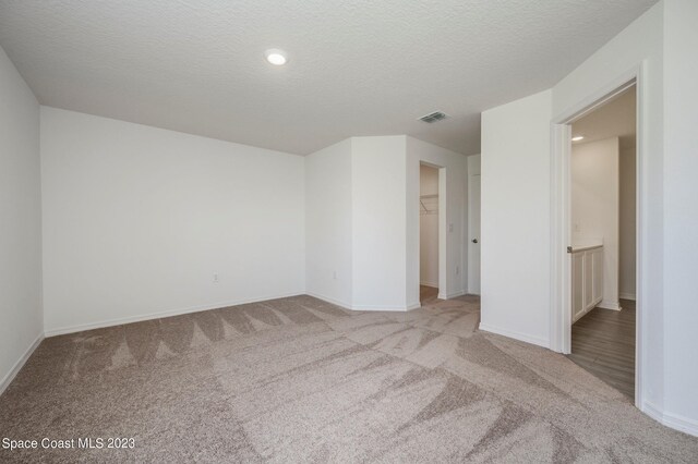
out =
<svg viewBox="0 0 698 464"><path fill-rule="evenodd" d="M635 302L590 310L571 326L569 359L635 399Z"/></svg>

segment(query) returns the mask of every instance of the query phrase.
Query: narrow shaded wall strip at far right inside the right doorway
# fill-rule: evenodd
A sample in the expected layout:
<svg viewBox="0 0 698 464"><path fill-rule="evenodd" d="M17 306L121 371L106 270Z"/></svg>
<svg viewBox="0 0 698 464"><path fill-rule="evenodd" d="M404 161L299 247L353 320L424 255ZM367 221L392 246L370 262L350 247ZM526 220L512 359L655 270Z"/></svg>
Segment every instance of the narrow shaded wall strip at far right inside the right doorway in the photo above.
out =
<svg viewBox="0 0 698 464"><path fill-rule="evenodd" d="M618 296L635 300L636 292L636 257L635 249L637 230L637 190L636 190L636 154L635 146L624 147L621 144L621 270L618 273Z"/></svg>

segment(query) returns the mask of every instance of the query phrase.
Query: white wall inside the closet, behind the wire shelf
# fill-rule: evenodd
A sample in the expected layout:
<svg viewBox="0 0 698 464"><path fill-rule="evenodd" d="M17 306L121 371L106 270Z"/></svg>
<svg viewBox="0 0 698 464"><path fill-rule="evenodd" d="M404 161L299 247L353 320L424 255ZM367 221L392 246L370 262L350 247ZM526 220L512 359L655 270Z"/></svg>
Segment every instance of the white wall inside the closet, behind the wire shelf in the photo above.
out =
<svg viewBox="0 0 698 464"><path fill-rule="evenodd" d="M419 168L420 196L438 195L438 170L421 164ZM431 207L437 204L433 199L424 199ZM436 205L437 207L437 205ZM419 217L419 280L420 284L438 288L438 210L424 213L420 209Z"/></svg>

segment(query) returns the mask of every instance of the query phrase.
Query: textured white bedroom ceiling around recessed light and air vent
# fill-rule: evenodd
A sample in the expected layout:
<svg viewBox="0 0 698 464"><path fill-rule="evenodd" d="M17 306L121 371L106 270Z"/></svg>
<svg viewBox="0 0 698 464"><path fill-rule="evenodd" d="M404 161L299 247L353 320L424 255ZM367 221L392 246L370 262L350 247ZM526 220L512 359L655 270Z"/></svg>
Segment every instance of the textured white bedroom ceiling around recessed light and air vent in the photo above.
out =
<svg viewBox="0 0 698 464"><path fill-rule="evenodd" d="M0 45L43 105L301 155L388 134L470 155L481 111L551 87L654 2L0 0ZM435 110L452 118L416 121Z"/></svg>

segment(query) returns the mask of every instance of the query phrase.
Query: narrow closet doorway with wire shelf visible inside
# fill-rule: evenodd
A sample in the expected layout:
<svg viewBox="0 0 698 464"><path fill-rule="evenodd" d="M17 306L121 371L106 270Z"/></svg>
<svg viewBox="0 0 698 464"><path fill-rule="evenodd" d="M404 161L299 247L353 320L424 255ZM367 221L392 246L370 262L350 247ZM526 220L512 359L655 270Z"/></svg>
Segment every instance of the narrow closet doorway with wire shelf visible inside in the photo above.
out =
<svg viewBox="0 0 698 464"><path fill-rule="evenodd" d="M419 296L423 306L438 295L438 169L420 163L419 180Z"/></svg>

